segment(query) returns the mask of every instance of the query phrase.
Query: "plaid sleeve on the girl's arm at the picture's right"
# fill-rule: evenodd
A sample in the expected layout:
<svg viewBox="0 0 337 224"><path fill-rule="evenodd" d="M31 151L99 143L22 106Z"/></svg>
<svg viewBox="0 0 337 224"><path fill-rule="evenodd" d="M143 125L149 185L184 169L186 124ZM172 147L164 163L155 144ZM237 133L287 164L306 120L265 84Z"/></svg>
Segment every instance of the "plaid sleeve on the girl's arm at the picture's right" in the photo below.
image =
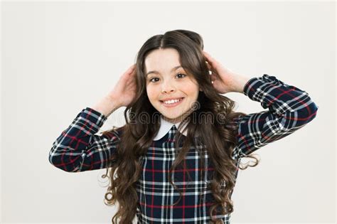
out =
<svg viewBox="0 0 337 224"><path fill-rule="evenodd" d="M232 159L251 154L304 127L316 117L319 108L307 92L267 74L248 80L243 93L268 110L235 118L237 145Z"/></svg>

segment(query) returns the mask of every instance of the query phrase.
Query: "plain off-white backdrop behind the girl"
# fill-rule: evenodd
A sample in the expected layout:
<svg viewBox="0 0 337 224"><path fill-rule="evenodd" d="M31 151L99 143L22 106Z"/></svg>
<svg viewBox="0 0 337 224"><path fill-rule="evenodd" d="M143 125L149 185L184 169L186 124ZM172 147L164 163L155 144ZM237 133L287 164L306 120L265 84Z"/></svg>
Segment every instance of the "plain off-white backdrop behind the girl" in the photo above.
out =
<svg viewBox="0 0 337 224"><path fill-rule="evenodd" d="M1 223L111 223L105 169L52 166L52 143L114 87L151 36L196 31L204 50L250 77L305 90L316 118L240 171L232 223L335 223L336 3L333 1L2 1ZM264 110L243 94L237 111ZM124 124L119 108L102 130Z"/></svg>

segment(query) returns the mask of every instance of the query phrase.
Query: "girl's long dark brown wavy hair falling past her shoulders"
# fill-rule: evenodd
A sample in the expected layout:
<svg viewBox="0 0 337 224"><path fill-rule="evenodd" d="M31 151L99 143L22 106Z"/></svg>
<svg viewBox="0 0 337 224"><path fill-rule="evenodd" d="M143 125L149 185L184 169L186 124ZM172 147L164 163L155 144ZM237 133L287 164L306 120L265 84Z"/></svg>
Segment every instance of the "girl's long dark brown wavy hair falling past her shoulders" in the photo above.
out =
<svg viewBox="0 0 337 224"><path fill-rule="evenodd" d="M186 73L193 75L202 90L199 91L198 100L193 105L192 112L183 119L178 127L181 129L183 125L187 124L187 136L183 137L180 132L176 132L174 137L177 156L169 171L169 181L179 191L180 198L173 205L181 200L182 193L171 180L171 173L183 163L186 153L192 145L196 147L196 145L203 144L205 146L201 147L203 149L196 147L200 154L201 176L203 176L205 169L203 151L207 151L210 162L214 166L213 179L208 184L208 188L211 189L215 198L215 202L210 207L212 219L210 223L222 223L212 214L227 214L234 210L230 196L235 186L237 164L241 164L233 160L231 156L237 144L237 126L230 124L233 119L246 114L234 112L235 102L216 92L210 80L206 58L203 56L203 38L193 31L167 31L164 35L152 36L141 46L136 62L136 97L124 110L126 124L102 132L107 136L114 131L122 133L116 154L113 154L109 160L107 173L102 176L109 178L111 184L105 193L105 204L112 206L116 202L119 203L117 213L112 217L113 224L118 223L118 219L122 224L132 223L137 213L138 196L135 183L139 180L142 170L139 158L146 155L146 151L151 146L160 127L160 117L156 116L159 112L151 105L146 95L144 60L152 50L163 48L174 48L178 51L181 65ZM214 70L212 72L215 73ZM196 135L198 138L195 138ZM181 139L184 141L181 142ZM180 143L183 144L181 149L178 147ZM257 166L259 163L259 160L252 155L245 157L256 161L255 164L247 164L247 166ZM246 169L247 166L239 166L239 168ZM107 175L108 173L109 175ZM225 186L222 186L222 183L225 183Z"/></svg>

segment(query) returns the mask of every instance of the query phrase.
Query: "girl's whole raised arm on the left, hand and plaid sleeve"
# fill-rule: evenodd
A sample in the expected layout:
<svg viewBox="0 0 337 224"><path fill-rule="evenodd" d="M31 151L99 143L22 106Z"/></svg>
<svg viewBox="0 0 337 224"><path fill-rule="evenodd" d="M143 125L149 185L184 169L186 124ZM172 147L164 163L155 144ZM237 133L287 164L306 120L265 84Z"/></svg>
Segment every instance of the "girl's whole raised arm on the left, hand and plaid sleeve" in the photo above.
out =
<svg viewBox="0 0 337 224"><path fill-rule="evenodd" d="M111 156L117 152L122 129L114 129L101 136L97 132L109 114L132 102L136 95L135 77L135 65L132 65L105 97L77 114L70 126L53 142L49 152L50 164L63 171L81 172L104 169L116 161Z"/></svg>

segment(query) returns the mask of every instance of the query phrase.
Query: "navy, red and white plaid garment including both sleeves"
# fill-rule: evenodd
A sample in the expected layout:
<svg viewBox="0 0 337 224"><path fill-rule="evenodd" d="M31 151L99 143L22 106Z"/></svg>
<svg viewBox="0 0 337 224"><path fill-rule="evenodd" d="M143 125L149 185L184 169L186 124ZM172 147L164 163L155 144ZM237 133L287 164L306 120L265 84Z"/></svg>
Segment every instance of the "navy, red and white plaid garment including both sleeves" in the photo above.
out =
<svg viewBox="0 0 337 224"><path fill-rule="evenodd" d="M242 156L304 127L316 117L318 110L307 92L267 74L251 78L244 87L244 94L268 110L238 117L232 123L238 125L237 146L232 153L237 165ZM83 109L53 142L49 153L50 163L68 172L105 169L121 134L112 131L98 135L106 119L104 114L90 107ZM178 205L170 206L179 198L178 191L168 180L169 169L175 159L173 136L177 131L176 125L172 125L169 132L153 141L146 155L139 159L143 170L136 185L139 196L138 223L208 223L210 220L208 210L214 198L207 186L211 181L209 177L213 166L207 152L205 166L208 168L205 169L205 176L201 177L197 150L191 148L188 151L186 167L193 180L188 181L183 170L173 173L171 178L181 189L183 197ZM230 223L230 214L215 217L221 218L223 223Z"/></svg>

